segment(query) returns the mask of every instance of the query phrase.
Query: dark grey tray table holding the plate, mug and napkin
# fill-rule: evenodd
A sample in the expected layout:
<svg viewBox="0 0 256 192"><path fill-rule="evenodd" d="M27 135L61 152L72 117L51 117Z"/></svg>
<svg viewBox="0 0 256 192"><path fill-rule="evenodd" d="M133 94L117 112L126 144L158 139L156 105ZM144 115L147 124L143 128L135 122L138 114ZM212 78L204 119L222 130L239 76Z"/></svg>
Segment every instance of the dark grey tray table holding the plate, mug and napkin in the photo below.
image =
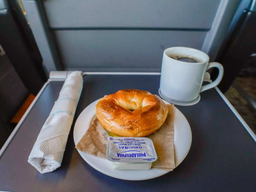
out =
<svg viewBox="0 0 256 192"><path fill-rule="evenodd" d="M0 190L35 191L256 191L256 137L218 88L201 93L193 106L176 106L192 130L184 161L161 177L126 181L93 169L78 154L74 123L91 102L120 89L158 94L154 73L87 73L63 162L54 172L40 174L27 159L64 79L49 79L0 151Z"/></svg>

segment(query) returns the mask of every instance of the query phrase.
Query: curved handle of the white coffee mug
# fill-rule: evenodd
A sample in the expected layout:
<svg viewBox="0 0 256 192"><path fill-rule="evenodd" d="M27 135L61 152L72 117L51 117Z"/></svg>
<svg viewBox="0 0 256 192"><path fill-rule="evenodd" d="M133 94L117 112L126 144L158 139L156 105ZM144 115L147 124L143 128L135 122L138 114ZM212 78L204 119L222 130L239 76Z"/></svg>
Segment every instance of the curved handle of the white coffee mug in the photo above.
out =
<svg viewBox="0 0 256 192"><path fill-rule="evenodd" d="M217 63L217 62L211 62L211 63L209 63L208 68L206 70L208 70L212 67L217 67L219 69L219 75L214 80L214 82L202 86L201 89L200 89L200 93L217 86L221 82L221 79L222 79L223 73L224 73L224 68L223 68L222 64Z"/></svg>

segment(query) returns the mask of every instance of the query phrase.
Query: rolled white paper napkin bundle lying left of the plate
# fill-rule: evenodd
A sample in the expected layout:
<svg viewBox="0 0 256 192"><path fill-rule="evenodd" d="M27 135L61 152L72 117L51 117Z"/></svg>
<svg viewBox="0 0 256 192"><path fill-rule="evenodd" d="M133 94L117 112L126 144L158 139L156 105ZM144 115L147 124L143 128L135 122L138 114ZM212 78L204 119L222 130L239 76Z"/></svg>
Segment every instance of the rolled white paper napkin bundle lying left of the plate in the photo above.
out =
<svg viewBox="0 0 256 192"><path fill-rule="evenodd" d="M29 155L28 162L40 173L52 172L61 165L82 88L82 72L69 74Z"/></svg>

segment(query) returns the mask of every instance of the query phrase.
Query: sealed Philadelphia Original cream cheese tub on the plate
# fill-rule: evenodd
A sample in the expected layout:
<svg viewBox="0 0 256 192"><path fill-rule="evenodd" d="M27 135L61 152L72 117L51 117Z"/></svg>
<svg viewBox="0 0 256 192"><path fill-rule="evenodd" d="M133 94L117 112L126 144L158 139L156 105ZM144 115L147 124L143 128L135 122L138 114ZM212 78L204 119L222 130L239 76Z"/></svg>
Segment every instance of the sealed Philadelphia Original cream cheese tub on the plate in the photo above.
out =
<svg viewBox="0 0 256 192"><path fill-rule="evenodd" d="M150 169L157 153L149 138L110 137L106 158L115 169Z"/></svg>

